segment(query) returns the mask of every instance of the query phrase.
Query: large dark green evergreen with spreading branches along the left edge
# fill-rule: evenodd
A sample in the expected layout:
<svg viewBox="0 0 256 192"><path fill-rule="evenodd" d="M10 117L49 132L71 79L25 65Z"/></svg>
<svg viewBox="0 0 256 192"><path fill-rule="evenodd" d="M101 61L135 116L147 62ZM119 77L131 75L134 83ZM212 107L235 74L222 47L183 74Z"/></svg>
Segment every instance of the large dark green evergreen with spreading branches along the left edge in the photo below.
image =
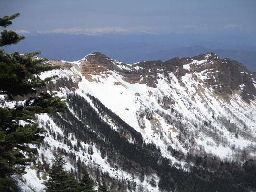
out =
<svg viewBox="0 0 256 192"><path fill-rule="evenodd" d="M19 13L0 18L0 26L5 28L11 25L11 20L18 16ZM16 44L22 39L24 36L19 36L14 31L2 30L0 47ZM37 149L31 148L30 144L40 144L44 129L35 122L35 114L56 112L65 107L60 98L48 93L37 93L38 89L51 79L41 80L39 74L56 68L43 65L46 59L34 59L38 53L40 52L24 55L18 52L7 54L0 50L0 95L14 100L15 96L28 98L27 94L34 94L24 105L15 108L0 107L1 192L17 191L17 184L13 178L24 173L25 166L36 160L32 158L32 154L35 155Z"/></svg>

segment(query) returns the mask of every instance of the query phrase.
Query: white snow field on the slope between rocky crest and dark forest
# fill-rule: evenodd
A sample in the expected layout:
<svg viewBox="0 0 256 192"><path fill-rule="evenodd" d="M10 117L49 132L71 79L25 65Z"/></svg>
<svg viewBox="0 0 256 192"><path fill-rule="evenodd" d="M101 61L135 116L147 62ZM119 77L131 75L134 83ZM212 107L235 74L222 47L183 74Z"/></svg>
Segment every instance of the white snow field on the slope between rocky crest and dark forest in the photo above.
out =
<svg viewBox="0 0 256 192"><path fill-rule="evenodd" d="M73 62L74 66L69 69L47 72L41 76L45 78L58 74L73 79L74 75L70 75L73 72L80 78L76 93L81 96L89 93L98 98L107 108L140 132L147 143L157 144L166 155L167 146L171 145L183 152L192 148L202 150L203 147L207 153L232 159L233 145L240 149L256 145L256 100L250 100L248 103L241 98L239 91L243 90L244 85L239 86L240 90L234 91L227 101L216 94L205 81L212 78L213 69L188 72L181 77L175 74L177 70L168 72L166 76L161 73L162 69L159 69L159 72L156 72L158 77L156 87L140 82L130 83L125 81L120 71L110 70L98 64L95 66L104 68L105 71L87 72L86 75L82 75L82 69L78 67L81 67L84 61L89 62L86 61L89 56ZM209 59L210 56L205 54L204 60L199 61L191 59L192 62L185 64L183 68L190 70L191 67L201 68L208 63L214 65ZM219 60L217 56L215 58ZM137 64L123 65L115 60L111 62L121 70L135 71L137 68L143 68ZM163 101L163 98L169 98L169 106L164 106L166 101ZM151 113L150 118L146 117L149 113ZM168 122L165 117L167 115L172 122ZM184 133L176 125L177 123L175 124L176 121L179 121L186 130L183 132L186 132L187 138L183 142L177 139L178 135ZM230 131L227 123L234 123L235 130ZM210 137L212 131L217 135ZM238 133L237 137L235 133ZM254 153L249 155L255 156Z"/></svg>

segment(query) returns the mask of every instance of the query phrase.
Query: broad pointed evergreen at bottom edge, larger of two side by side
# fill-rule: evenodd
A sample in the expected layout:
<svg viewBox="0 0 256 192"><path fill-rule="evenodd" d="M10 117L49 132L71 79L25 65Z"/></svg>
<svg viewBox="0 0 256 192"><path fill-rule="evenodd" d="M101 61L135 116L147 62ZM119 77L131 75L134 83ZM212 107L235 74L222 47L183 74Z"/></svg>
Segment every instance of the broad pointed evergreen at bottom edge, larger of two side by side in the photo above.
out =
<svg viewBox="0 0 256 192"><path fill-rule="evenodd" d="M44 182L45 192L77 192L78 185L74 174L68 173L64 168L65 165L64 157L58 155L50 170L50 178Z"/></svg>

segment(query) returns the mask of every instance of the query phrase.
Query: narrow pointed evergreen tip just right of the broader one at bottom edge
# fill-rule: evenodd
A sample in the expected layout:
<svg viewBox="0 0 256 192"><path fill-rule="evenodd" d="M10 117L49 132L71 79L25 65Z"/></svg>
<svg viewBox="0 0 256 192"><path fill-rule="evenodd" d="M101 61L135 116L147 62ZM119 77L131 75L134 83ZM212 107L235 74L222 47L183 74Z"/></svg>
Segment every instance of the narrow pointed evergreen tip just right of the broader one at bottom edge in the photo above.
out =
<svg viewBox="0 0 256 192"><path fill-rule="evenodd" d="M93 190L93 181L90 178L90 175L86 170L86 167L84 167L82 171L82 178L79 183L79 192L95 192Z"/></svg>

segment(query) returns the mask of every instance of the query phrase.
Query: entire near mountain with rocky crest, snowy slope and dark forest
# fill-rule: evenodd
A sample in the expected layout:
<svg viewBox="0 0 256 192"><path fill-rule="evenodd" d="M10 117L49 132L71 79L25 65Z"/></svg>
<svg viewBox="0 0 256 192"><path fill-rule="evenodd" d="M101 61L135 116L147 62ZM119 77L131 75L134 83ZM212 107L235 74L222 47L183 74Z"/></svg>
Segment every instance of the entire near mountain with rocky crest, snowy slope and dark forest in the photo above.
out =
<svg viewBox="0 0 256 192"><path fill-rule="evenodd" d="M77 178L85 163L113 191L256 189L256 73L241 63L206 53L124 64L96 52L48 64L61 69L41 74L58 75L45 91L68 109L38 116L47 134L41 167L21 178L30 189L57 152Z"/></svg>

